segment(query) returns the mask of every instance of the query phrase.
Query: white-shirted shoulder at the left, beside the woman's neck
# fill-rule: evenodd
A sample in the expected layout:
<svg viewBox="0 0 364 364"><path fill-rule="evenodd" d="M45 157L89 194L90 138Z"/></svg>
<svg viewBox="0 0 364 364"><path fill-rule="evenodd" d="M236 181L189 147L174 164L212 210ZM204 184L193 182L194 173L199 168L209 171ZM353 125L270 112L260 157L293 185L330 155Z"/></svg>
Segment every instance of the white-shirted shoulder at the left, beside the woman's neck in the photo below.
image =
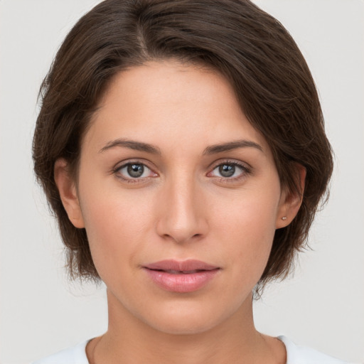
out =
<svg viewBox="0 0 364 364"><path fill-rule="evenodd" d="M86 356L87 343L88 340L37 360L32 364L88 364Z"/></svg>

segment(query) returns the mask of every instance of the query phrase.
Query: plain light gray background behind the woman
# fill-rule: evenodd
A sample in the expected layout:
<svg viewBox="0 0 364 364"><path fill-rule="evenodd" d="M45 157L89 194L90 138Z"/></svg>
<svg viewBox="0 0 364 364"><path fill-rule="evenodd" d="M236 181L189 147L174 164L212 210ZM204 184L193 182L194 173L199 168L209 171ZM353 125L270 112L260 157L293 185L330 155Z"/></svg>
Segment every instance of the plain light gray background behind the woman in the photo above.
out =
<svg viewBox="0 0 364 364"><path fill-rule="evenodd" d="M67 282L63 247L34 182L38 87L60 42L95 0L0 1L1 363L48 355L105 331L105 291ZM364 360L364 3L257 0L296 39L336 152L331 200L293 278L255 304L257 328Z"/></svg>

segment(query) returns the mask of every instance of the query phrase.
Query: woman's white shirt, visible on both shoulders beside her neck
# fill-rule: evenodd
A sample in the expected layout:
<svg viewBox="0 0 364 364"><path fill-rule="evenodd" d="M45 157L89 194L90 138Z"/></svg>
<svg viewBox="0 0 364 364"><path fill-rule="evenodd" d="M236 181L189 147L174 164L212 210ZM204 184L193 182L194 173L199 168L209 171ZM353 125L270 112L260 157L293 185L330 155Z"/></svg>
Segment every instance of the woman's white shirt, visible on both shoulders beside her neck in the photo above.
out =
<svg viewBox="0 0 364 364"><path fill-rule="evenodd" d="M278 338L286 346L287 364L349 364L320 353L317 350L304 346L296 346L296 344L289 341L285 336L278 336ZM89 364L86 356L87 343L88 341L84 341L72 348L37 360L33 364Z"/></svg>

